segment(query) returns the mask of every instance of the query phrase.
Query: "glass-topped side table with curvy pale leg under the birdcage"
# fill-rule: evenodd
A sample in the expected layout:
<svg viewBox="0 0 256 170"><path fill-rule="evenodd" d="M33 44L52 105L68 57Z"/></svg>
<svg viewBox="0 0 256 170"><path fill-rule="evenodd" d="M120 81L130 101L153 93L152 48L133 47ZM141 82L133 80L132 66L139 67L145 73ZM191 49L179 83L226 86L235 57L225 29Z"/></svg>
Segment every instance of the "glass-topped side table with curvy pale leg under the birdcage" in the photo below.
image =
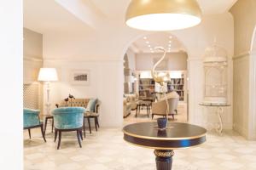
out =
<svg viewBox="0 0 256 170"><path fill-rule="evenodd" d="M223 121L222 115L224 113L224 107L230 106L230 104L224 103L201 103L199 105L207 106L207 107L217 107L216 115L218 116L218 126L215 127L216 131L220 134L223 133Z"/></svg>

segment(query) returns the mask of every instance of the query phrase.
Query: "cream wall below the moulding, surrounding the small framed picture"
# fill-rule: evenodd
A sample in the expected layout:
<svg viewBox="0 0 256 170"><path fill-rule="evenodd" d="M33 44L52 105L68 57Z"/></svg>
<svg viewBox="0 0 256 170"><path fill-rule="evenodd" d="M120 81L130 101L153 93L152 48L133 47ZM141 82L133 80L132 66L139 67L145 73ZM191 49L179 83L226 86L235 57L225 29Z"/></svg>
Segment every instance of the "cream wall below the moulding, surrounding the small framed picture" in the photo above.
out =
<svg viewBox="0 0 256 170"><path fill-rule="evenodd" d="M100 123L103 127L118 127L122 124L122 95L123 83L118 77L123 77L122 60L115 61L91 61L91 60L44 60L44 66L55 67L58 72L59 81L51 83L50 103L51 108L55 104L67 98L68 94L73 94L77 99L100 99ZM90 71L90 84L88 86L73 85L70 82L71 72L73 70ZM44 95L46 96L46 95ZM119 116L119 114L121 116Z"/></svg>

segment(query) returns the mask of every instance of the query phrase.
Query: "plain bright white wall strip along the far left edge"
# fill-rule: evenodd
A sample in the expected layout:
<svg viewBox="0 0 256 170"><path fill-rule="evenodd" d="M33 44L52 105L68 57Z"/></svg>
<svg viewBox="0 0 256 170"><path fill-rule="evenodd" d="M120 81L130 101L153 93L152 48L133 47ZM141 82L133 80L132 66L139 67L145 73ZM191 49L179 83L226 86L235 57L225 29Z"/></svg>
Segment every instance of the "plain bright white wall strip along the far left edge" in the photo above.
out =
<svg viewBox="0 0 256 170"><path fill-rule="evenodd" d="M0 1L0 169L23 168L22 1Z"/></svg>

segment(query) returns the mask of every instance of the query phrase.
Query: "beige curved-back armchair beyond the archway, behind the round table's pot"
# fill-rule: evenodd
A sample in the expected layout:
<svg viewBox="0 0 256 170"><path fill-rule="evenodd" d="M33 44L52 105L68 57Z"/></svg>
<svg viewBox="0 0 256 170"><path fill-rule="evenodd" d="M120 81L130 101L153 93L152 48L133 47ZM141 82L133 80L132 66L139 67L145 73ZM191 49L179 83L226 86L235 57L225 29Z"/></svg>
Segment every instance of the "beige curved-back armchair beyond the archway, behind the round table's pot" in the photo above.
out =
<svg viewBox="0 0 256 170"><path fill-rule="evenodd" d="M174 115L177 114L178 98L169 98L167 100L169 104L168 116L172 116L172 118L174 119ZM167 109L166 100L153 102L152 103L152 119L154 118L154 115L166 116L166 109Z"/></svg>

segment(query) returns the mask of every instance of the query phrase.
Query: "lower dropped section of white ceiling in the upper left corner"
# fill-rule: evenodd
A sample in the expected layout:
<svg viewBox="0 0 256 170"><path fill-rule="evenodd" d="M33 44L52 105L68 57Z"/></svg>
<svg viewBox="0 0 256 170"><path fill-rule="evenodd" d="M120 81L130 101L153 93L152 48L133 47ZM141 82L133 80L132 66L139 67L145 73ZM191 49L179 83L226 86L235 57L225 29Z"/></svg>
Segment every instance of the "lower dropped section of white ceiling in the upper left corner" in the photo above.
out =
<svg viewBox="0 0 256 170"><path fill-rule="evenodd" d="M90 29L54 0L24 0L23 8L24 27L33 31L48 33Z"/></svg>

